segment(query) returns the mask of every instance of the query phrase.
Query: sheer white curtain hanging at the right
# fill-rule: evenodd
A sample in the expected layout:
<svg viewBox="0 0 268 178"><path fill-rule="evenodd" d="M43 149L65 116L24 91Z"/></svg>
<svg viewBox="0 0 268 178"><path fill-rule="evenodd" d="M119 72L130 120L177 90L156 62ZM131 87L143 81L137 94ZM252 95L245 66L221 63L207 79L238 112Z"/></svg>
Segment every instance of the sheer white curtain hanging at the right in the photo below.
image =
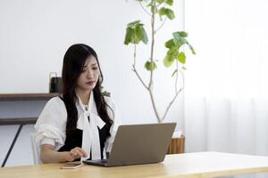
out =
<svg viewBox="0 0 268 178"><path fill-rule="evenodd" d="M268 156L267 17L267 0L185 1L186 151Z"/></svg>

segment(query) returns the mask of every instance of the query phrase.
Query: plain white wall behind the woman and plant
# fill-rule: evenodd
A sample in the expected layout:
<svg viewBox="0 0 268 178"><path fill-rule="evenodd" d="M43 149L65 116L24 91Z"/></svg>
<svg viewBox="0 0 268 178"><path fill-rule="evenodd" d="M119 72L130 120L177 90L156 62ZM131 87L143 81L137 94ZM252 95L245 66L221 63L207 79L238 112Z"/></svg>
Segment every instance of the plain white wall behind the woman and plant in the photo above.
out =
<svg viewBox="0 0 268 178"><path fill-rule="evenodd" d="M167 20L157 34L155 96L160 112L172 98L172 70L163 70L163 43L183 28L183 2L175 1L178 18ZM175 8L173 8L175 10ZM112 93L123 124L156 122L147 91L131 71L132 46L123 44L126 24L149 18L134 0L3 0L0 1L0 93L47 93L49 72L61 74L63 54L71 44L91 45L99 56L105 89ZM158 24L160 25L160 24ZM149 46L138 47L139 71L149 57ZM147 80L146 80L147 81ZM183 127L183 100L176 101L167 121ZM13 127L13 126L12 126ZM1 132L13 129L1 126ZM15 126L13 127L15 128ZM29 129L30 130L30 129ZM4 137L0 137L0 142ZM20 141L18 142L20 145ZM1 151L2 152L2 151Z"/></svg>

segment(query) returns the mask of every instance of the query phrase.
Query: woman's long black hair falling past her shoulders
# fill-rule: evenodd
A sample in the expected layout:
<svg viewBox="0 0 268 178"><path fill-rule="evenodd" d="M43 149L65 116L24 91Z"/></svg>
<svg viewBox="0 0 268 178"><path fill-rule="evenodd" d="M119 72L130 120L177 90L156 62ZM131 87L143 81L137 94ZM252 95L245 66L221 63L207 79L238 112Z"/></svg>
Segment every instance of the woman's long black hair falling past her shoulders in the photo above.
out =
<svg viewBox="0 0 268 178"><path fill-rule="evenodd" d="M77 127L78 110L75 105L76 101L78 100L76 95L77 81L82 73L85 62L90 56L94 56L96 58L100 71L100 77L98 78L96 86L93 89L97 113L107 125L111 126L113 124L113 120L107 113L107 107L109 106L106 104L105 97L100 90L104 77L100 69L96 52L87 44L73 44L67 50L63 58L63 101L65 103L68 115L66 123L67 136L70 135L71 131L75 130Z"/></svg>

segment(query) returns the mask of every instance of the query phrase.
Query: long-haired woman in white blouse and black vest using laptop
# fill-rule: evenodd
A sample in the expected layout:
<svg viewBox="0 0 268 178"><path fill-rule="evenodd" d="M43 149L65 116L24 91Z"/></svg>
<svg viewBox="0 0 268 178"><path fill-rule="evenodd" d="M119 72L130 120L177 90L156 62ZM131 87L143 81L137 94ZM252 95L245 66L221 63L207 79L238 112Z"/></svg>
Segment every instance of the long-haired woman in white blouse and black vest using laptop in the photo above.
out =
<svg viewBox="0 0 268 178"><path fill-rule="evenodd" d="M46 103L35 125L42 162L105 158L120 121L113 102L100 91L96 52L86 44L71 45L62 77L63 95Z"/></svg>

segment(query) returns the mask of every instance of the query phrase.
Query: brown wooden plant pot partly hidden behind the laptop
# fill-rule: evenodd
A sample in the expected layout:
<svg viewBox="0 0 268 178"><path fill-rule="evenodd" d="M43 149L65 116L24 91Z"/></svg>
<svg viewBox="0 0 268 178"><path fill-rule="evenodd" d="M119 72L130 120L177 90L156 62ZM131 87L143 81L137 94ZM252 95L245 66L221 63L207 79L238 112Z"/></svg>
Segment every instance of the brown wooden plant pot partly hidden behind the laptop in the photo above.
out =
<svg viewBox="0 0 268 178"><path fill-rule="evenodd" d="M172 138L167 154L184 153L185 137L181 135L179 138Z"/></svg>

